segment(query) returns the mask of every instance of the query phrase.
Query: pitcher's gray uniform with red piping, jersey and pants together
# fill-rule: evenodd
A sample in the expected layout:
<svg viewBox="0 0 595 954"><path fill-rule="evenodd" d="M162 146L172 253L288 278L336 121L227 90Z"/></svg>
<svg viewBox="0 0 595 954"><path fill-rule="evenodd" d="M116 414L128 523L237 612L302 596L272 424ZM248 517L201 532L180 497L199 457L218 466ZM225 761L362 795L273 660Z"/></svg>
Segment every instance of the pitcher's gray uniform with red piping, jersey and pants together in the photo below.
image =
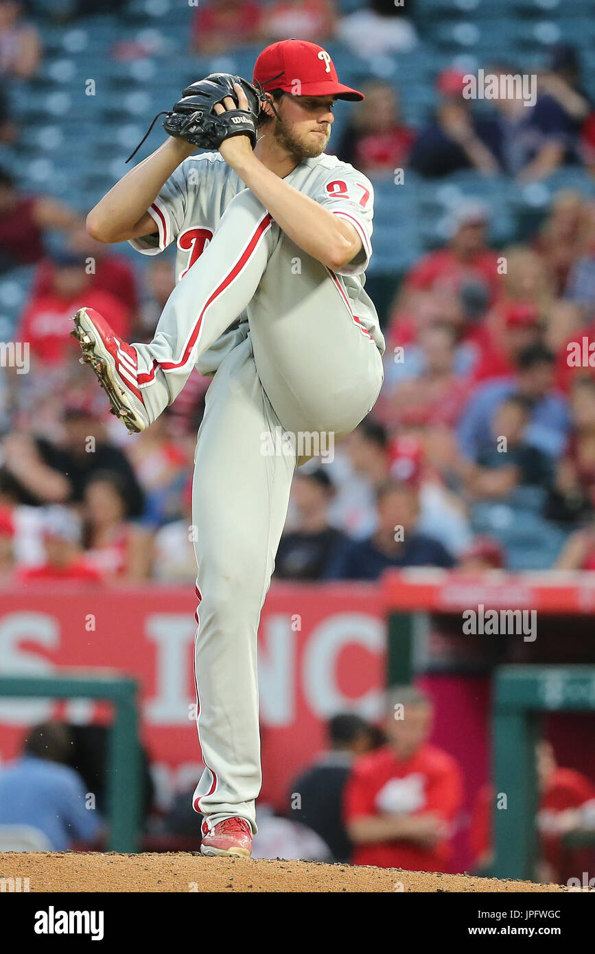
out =
<svg viewBox="0 0 595 954"><path fill-rule="evenodd" d="M329 435L353 430L383 377L384 341L363 287L372 186L334 156L306 159L286 181L357 229L361 252L340 275L289 239L218 153L179 166L150 210L158 234L132 242L145 255L173 241L177 248L177 283L154 339L133 345L134 382L150 419L195 366L214 375L193 485L196 727L205 763L194 805L203 831L231 816L256 831L256 634L292 477L316 452L306 439L326 435L328 448Z"/></svg>

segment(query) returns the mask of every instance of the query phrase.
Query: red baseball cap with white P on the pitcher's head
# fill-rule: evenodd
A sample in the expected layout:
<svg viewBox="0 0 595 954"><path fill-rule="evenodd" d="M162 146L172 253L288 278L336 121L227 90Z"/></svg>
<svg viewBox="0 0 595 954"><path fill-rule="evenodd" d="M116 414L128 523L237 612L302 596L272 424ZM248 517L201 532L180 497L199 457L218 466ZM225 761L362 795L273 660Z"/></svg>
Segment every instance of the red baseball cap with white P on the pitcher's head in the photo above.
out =
<svg viewBox="0 0 595 954"><path fill-rule="evenodd" d="M263 90L283 90L295 96L337 96L364 99L363 93L339 83L331 54L307 40L278 40L256 60L255 81Z"/></svg>

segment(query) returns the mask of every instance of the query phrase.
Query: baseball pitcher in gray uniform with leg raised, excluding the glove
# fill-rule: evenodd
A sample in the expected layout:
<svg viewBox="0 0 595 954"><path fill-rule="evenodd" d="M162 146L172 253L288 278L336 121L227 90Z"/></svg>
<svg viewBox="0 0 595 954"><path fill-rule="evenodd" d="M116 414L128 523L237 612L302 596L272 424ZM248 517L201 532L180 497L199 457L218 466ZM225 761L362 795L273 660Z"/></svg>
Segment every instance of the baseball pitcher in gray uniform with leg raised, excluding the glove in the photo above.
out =
<svg viewBox="0 0 595 954"><path fill-rule="evenodd" d="M240 857L252 849L261 781L256 633L293 474L313 456L303 436L322 446L359 424L379 396L384 351L362 279L373 186L325 155L335 103L363 93L339 81L327 50L299 39L263 50L254 80L254 148L235 135L193 156L192 144L169 137L87 219L95 239L128 239L146 255L175 243L177 284L153 341L122 341L92 308L74 317L84 356L132 432L174 402L195 368L214 376L193 485L206 765L194 806L202 853ZM215 113L248 109L234 89Z"/></svg>

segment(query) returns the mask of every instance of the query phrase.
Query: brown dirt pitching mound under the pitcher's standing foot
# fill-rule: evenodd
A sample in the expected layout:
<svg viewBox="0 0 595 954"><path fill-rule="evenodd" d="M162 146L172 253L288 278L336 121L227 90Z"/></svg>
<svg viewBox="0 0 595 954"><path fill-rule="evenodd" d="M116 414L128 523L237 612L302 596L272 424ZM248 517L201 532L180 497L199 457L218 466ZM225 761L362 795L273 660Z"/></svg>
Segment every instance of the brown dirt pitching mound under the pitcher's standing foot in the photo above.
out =
<svg viewBox="0 0 595 954"><path fill-rule="evenodd" d="M364 868L311 861L202 858L199 854L118 855L115 852L0 854L0 878L30 892L395 892L567 891L558 884L437 875L400 868ZM11 890L10 881L3 889ZM18 890L18 887L17 887ZM21 886L20 890L24 890Z"/></svg>

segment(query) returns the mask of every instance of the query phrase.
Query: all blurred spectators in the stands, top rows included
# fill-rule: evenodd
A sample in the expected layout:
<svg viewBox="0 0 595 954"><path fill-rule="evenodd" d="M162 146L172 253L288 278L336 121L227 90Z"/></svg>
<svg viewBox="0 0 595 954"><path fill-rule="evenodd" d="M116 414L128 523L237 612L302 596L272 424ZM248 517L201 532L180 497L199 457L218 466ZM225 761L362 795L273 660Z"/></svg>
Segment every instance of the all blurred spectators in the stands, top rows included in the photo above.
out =
<svg viewBox="0 0 595 954"><path fill-rule="evenodd" d="M43 60L36 14L71 22L91 7L126 3L0 0L0 136L18 144L10 80L34 79ZM355 12L333 0L205 0L189 44L215 54L293 35L340 41L359 57L399 55L421 43L416 13L392 0ZM562 166L595 170L580 55L563 44L548 55L531 109L501 98L476 112L463 74L442 70L417 129L402 122L394 84L370 79L330 148L374 182L409 168L521 182ZM494 75L522 67L486 64ZM594 330L595 204L564 188L528 238L503 248L491 243L490 216L477 198L453 205L449 238L404 275L382 315L380 400L351 437L297 471L277 578L527 569L538 552L540 569L595 567L595 379L589 353L575 366L568 351ZM0 275L19 265L34 274L15 360L0 372L0 580L192 580L190 474L209 381L195 374L149 431L129 437L69 337L87 304L125 340L150 340L174 287L169 252L133 263L91 239L78 211L0 169ZM530 526L508 539L519 511Z"/></svg>

